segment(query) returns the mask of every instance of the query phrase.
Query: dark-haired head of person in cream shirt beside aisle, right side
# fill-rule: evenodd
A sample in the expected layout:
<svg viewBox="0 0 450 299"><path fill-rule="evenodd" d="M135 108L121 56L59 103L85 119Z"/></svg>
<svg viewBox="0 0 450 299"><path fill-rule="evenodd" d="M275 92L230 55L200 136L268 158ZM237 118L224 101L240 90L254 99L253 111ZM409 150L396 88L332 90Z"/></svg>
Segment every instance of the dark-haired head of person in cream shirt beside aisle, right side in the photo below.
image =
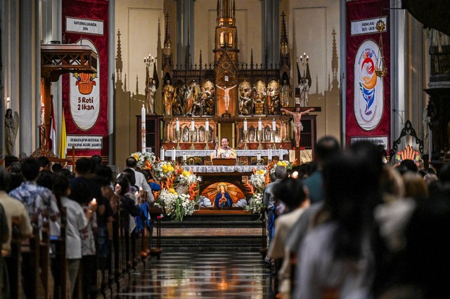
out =
<svg viewBox="0 0 450 299"><path fill-rule="evenodd" d="M276 199L283 201L290 210L300 206L307 198L303 182L299 178L285 178L282 180L275 187L274 196Z"/></svg>

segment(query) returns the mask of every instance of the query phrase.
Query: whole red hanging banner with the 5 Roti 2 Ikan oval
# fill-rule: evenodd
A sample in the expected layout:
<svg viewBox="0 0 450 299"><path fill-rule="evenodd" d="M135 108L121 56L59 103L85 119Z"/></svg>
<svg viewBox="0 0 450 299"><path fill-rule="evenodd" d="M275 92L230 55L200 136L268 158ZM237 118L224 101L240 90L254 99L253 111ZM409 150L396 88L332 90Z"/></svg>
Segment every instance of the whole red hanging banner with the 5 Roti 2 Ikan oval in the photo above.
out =
<svg viewBox="0 0 450 299"><path fill-rule="evenodd" d="M74 146L77 157L108 157L108 1L63 0L63 36L98 55L97 74L63 76L68 152Z"/></svg>

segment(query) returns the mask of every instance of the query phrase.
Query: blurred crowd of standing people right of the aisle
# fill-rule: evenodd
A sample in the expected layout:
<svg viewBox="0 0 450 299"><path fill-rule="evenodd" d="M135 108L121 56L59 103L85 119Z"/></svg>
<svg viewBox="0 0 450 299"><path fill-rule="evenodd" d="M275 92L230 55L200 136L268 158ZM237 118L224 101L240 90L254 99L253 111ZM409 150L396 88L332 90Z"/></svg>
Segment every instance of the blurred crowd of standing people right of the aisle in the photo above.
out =
<svg viewBox="0 0 450 299"><path fill-rule="evenodd" d="M321 138L264 191L276 298L446 298L450 163L385 163L385 150Z"/></svg>

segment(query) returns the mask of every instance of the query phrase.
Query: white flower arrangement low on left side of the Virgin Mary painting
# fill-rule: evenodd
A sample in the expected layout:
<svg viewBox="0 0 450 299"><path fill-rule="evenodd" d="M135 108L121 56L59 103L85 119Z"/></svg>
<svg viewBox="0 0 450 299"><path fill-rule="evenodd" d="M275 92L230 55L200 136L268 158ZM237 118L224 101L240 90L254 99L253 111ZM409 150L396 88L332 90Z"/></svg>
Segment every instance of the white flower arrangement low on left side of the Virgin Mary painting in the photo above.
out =
<svg viewBox="0 0 450 299"><path fill-rule="evenodd" d="M158 197L158 205L166 208L167 215L172 216L175 221L183 221L184 216L192 215L195 201L190 199L189 194L178 194L173 188L162 190Z"/></svg>

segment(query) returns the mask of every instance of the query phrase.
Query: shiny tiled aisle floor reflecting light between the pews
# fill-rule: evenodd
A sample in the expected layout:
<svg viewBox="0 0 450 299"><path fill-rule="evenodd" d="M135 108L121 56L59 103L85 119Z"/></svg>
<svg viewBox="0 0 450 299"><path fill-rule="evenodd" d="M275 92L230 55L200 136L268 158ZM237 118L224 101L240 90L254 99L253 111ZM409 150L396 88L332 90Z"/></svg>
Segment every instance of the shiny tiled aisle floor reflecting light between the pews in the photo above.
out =
<svg viewBox="0 0 450 299"><path fill-rule="evenodd" d="M117 298L272 298L259 253L162 253Z"/></svg>

